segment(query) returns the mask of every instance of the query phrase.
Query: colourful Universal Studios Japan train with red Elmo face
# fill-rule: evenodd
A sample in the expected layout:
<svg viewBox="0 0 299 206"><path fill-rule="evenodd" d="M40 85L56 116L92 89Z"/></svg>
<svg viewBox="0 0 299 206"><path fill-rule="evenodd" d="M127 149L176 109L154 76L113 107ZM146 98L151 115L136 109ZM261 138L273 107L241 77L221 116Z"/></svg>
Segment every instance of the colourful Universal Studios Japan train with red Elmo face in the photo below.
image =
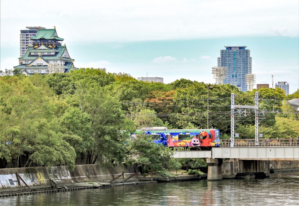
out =
<svg viewBox="0 0 299 206"><path fill-rule="evenodd" d="M220 147L219 129L143 127L136 132L152 135L153 142L161 143L166 147L190 147L190 150L210 150L212 147Z"/></svg>

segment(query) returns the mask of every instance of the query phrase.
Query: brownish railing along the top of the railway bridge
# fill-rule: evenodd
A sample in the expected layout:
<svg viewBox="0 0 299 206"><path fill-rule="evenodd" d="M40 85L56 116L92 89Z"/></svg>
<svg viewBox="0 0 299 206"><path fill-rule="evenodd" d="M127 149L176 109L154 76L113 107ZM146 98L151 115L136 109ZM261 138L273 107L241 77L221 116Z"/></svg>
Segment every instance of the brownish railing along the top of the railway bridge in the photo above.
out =
<svg viewBox="0 0 299 206"><path fill-rule="evenodd" d="M299 146L299 139L259 139L259 144L256 145L255 139L235 139L234 147L294 147ZM220 147L231 147L231 140L222 139Z"/></svg>

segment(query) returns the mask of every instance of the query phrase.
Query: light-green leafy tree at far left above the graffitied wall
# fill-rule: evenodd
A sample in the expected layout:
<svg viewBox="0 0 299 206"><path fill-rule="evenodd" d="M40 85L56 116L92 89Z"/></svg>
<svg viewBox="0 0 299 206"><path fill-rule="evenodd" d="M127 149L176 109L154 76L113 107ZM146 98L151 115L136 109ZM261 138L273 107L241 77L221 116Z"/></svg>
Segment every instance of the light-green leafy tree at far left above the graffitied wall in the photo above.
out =
<svg viewBox="0 0 299 206"><path fill-rule="evenodd" d="M4 151L1 156L7 161L15 158L17 167L22 166L22 157L27 157L24 167L32 163L74 167L76 153L60 138L60 124L52 112L50 97L51 93L34 86L29 78L0 80L0 142L7 143L5 150L1 149L1 152ZM56 148L59 158L51 158L45 147Z"/></svg>

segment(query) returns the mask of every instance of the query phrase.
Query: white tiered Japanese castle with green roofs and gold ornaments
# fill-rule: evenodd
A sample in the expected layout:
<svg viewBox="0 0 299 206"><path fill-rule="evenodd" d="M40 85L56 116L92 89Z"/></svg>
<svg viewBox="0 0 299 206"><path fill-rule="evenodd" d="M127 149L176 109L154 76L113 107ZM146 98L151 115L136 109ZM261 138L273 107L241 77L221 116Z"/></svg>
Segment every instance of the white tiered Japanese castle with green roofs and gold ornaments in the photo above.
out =
<svg viewBox="0 0 299 206"><path fill-rule="evenodd" d="M56 28L39 29L36 36L30 37L32 46L28 45L19 65L13 68L21 69L22 74L52 74L67 73L78 69L74 59L68 54L66 45L61 45L62 38L58 37Z"/></svg>

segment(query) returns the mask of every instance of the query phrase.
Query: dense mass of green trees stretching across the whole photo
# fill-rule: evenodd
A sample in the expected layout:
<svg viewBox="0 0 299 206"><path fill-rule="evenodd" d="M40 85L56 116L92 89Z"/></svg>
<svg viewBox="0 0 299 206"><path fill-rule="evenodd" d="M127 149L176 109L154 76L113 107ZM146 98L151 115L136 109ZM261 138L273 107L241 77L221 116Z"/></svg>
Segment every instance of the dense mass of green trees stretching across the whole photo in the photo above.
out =
<svg viewBox="0 0 299 206"><path fill-rule="evenodd" d="M229 138L231 93L237 95L236 105L254 105L257 91L244 93L233 85L200 80L148 83L92 68L49 75L0 74L0 168L12 161L15 167L74 168L79 155L86 155L86 164L137 162L155 171L177 168L181 164L170 157L172 151L146 135L132 138L129 133L143 126L205 129L208 113L209 127ZM299 98L299 90L287 96L279 88L258 92L263 138L297 138L299 112L287 101ZM253 110L238 109L235 122L239 138L254 138Z"/></svg>

